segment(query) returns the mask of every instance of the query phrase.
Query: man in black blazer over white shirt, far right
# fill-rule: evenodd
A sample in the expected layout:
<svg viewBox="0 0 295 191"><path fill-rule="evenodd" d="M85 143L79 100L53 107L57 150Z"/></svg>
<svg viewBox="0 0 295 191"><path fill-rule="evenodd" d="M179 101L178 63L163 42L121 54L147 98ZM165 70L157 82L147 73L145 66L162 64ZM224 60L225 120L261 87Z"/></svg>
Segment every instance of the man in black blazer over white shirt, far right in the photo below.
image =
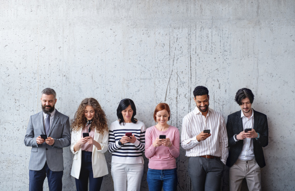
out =
<svg viewBox="0 0 295 191"><path fill-rule="evenodd" d="M268 144L267 118L251 108L254 100L251 90L238 90L235 100L241 110L229 115L226 124L230 191L239 191L244 178L249 191L261 191L261 168L266 165L262 147Z"/></svg>

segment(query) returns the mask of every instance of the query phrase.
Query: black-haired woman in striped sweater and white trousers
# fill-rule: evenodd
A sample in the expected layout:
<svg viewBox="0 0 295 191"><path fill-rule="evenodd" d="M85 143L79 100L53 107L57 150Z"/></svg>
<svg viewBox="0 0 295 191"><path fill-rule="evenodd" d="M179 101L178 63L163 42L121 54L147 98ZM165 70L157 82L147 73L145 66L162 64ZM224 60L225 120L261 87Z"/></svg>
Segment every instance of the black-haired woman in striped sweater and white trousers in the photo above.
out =
<svg viewBox="0 0 295 191"><path fill-rule="evenodd" d="M122 99L117 108L118 121L109 128L109 152L112 153L112 177L115 191L140 191L144 173L144 123L134 118L136 107L131 99ZM132 135L125 136L125 133Z"/></svg>

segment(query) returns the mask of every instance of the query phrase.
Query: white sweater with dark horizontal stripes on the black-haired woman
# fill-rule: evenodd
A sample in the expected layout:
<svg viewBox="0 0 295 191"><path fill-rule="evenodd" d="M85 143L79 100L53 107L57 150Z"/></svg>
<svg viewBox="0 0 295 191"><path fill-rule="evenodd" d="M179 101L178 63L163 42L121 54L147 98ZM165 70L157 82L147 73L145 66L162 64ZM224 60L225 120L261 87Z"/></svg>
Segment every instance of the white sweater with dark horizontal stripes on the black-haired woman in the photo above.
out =
<svg viewBox="0 0 295 191"><path fill-rule="evenodd" d="M131 132L136 137L135 143L125 143L119 145L118 141ZM115 121L109 127L109 152L112 153L112 162L121 164L139 164L144 163L143 152L145 151L146 126L143 122L119 124Z"/></svg>

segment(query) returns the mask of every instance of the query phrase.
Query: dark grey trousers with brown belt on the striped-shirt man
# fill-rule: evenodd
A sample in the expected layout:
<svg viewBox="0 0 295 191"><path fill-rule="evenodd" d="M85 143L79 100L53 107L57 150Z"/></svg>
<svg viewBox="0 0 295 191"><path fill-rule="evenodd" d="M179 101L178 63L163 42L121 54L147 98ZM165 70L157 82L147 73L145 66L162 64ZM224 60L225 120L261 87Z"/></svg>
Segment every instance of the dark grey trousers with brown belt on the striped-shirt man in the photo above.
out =
<svg viewBox="0 0 295 191"><path fill-rule="evenodd" d="M188 174L194 191L220 191L224 166L220 159L190 157Z"/></svg>

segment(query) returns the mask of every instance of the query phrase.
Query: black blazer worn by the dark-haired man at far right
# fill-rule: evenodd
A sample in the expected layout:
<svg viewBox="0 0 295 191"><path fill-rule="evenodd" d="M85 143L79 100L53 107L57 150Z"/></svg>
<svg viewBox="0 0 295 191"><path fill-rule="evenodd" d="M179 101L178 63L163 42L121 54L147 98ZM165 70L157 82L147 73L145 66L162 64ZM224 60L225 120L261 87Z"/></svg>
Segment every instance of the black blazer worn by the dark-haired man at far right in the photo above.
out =
<svg viewBox="0 0 295 191"><path fill-rule="evenodd" d="M258 140L253 139L253 150L256 162L262 168L266 165L265 158L263 155L262 147L265 147L268 144L268 127L267 127L267 118L266 115L258 111L254 112L254 124L253 128L256 132L259 133L260 137ZM226 165L231 167L235 164L239 155L242 152L243 141L235 141L234 135L239 134L243 131L243 122L241 118L241 110L235 113L232 113L228 116L226 129L229 138L229 157L226 161Z"/></svg>

